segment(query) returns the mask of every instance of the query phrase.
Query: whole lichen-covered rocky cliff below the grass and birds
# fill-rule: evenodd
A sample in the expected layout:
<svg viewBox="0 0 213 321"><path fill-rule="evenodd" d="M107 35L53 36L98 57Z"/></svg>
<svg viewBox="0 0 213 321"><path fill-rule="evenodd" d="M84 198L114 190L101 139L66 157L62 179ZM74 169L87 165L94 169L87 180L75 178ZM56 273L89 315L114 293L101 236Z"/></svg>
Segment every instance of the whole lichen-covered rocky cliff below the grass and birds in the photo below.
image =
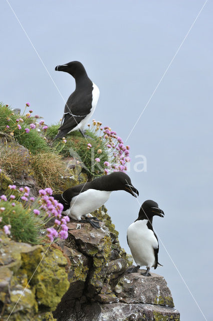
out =
<svg viewBox="0 0 213 321"><path fill-rule="evenodd" d="M70 186L86 181L75 159L66 163ZM38 183L29 171L15 181L2 171L0 195L13 183L28 186L30 195L38 196ZM100 229L70 221L68 239L51 246L15 242L1 232L1 320L179 320L165 279L154 273L126 273L132 258L120 247L106 208L93 214L102 220Z"/></svg>

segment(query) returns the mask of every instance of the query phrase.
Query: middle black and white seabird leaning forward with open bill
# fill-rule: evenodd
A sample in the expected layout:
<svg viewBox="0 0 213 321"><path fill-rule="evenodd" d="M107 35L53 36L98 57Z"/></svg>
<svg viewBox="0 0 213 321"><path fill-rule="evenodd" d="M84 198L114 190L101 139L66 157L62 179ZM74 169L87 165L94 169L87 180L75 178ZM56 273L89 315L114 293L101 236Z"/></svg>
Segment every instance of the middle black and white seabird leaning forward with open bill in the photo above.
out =
<svg viewBox="0 0 213 321"><path fill-rule="evenodd" d="M129 176L122 172L99 177L86 184L80 184L71 187L62 194L53 195L53 197L64 205L62 214L68 215L74 220L89 222L93 227L100 228L97 218L86 216L100 208L110 197L113 191L126 191L137 197L139 195L136 188L131 183Z"/></svg>

